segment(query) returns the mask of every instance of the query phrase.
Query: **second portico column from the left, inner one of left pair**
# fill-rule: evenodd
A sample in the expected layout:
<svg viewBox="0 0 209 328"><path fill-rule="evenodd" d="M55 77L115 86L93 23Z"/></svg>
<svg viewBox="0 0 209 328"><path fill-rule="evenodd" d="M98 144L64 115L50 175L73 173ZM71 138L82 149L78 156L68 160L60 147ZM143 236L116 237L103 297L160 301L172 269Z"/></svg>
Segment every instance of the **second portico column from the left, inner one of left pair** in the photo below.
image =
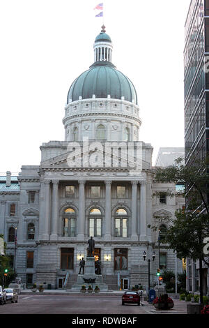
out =
<svg viewBox="0 0 209 328"><path fill-rule="evenodd" d="M57 223L58 223L58 186L59 180L52 180L52 229L51 229L51 240L57 239Z"/></svg>

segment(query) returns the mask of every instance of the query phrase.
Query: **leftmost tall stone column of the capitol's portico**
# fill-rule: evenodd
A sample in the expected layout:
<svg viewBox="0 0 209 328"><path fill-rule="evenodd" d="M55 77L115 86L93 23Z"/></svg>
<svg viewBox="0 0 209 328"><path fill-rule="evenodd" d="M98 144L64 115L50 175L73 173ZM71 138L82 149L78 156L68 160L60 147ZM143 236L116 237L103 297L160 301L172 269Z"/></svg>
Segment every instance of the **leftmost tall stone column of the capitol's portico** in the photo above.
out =
<svg viewBox="0 0 209 328"><path fill-rule="evenodd" d="M50 182L45 180L45 217L42 225L42 239L49 240L49 221L50 221Z"/></svg>

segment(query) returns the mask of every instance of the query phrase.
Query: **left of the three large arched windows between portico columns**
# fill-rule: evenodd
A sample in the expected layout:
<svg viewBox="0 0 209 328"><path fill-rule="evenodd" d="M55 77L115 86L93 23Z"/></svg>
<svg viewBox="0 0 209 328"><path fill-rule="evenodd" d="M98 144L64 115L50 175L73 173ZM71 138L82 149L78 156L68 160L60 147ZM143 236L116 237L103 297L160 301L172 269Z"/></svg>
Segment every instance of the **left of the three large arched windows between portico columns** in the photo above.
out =
<svg viewBox="0 0 209 328"><path fill-rule="evenodd" d="M63 214L63 237L75 237L76 213L75 209L68 207Z"/></svg>

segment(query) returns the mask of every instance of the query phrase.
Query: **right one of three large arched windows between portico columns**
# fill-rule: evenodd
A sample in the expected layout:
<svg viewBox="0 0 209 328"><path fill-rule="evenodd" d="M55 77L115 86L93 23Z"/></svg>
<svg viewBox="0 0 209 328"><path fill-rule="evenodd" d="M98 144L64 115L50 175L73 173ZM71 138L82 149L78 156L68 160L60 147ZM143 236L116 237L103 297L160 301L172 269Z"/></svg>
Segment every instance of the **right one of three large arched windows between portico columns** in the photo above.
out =
<svg viewBox="0 0 209 328"><path fill-rule="evenodd" d="M115 237L127 237L127 211L123 208L117 209L115 213Z"/></svg>

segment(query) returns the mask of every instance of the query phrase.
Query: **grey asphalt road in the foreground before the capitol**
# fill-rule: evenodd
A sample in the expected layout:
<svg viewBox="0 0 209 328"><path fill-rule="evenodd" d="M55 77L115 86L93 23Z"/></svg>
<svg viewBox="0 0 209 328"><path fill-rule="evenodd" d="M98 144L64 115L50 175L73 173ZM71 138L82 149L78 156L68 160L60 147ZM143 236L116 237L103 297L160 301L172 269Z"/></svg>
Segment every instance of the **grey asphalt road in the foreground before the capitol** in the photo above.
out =
<svg viewBox="0 0 209 328"><path fill-rule="evenodd" d="M19 295L18 303L0 306L1 314L139 314L147 306L121 304L121 296Z"/></svg>

